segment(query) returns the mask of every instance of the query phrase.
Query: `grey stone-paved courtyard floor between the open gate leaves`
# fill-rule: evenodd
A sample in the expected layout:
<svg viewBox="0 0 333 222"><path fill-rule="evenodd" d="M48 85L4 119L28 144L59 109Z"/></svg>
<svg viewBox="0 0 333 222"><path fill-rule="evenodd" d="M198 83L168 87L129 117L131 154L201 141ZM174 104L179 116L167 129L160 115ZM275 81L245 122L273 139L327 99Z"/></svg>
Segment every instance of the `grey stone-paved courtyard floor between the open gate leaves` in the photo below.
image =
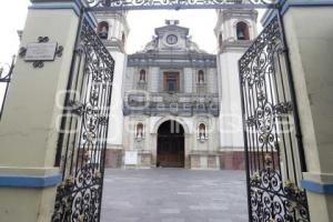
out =
<svg viewBox="0 0 333 222"><path fill-rule="evenodd" d="M244 171L107 170L102 222L245 222Z"/></svg>

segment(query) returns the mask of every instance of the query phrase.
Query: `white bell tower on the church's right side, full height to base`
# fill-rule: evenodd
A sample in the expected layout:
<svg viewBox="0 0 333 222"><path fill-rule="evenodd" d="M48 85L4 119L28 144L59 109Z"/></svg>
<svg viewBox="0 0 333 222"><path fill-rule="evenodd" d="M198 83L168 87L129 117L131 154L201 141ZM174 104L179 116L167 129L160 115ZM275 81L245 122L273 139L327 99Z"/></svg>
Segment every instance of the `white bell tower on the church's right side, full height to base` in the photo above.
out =
<svg viewBox="0 0 333 222"><path fill-rule="evenodd" d="M225 169L244 168L244 140L239 80L239 59L255 39L258 11L216 10L220 89L220 152Z"/></svg>

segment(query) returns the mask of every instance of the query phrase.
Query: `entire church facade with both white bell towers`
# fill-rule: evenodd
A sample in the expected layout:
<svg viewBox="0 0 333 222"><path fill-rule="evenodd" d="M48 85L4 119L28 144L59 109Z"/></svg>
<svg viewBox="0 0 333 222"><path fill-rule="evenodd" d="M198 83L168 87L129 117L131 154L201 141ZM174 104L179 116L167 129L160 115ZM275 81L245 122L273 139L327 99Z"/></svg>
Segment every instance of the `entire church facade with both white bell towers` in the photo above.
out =
<svg viewBox="0 0 333 222"><path fill-rule="evenodd" d="M127 14L98 12L115 59L107 167L244 168L238 60L256 36L258 13L216 13L218 54L201 50L178 20L127 54Z"/></svg>

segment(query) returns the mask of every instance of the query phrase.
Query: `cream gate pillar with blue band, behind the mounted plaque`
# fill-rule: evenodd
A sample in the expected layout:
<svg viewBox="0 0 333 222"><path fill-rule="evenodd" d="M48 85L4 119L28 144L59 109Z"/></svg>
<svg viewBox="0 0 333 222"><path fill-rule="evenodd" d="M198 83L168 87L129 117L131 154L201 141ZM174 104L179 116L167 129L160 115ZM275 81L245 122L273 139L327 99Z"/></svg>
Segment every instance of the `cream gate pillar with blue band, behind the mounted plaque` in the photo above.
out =
<svg viewBox="0 0 333 222"><path fill-rule="evenodd" d="M51 220L58 127L77 37L80 1L31 0L21 47L48 37L62 56L34 68L18 58L0 122L0 221ZM93 21L91 21L93 22Z"/></svg>

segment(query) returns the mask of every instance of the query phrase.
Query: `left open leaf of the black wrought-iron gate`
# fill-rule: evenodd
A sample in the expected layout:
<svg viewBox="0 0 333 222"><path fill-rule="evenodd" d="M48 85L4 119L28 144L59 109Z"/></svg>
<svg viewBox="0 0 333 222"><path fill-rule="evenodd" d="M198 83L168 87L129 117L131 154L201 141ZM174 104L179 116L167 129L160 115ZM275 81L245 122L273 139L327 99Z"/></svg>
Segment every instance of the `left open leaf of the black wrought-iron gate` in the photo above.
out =
<svg viewBox="0 0 333 222"><path fill-rule="evenodd" d="M100 221L114 61L85 19L80 22L65 92L52 221Z"/></svg>

